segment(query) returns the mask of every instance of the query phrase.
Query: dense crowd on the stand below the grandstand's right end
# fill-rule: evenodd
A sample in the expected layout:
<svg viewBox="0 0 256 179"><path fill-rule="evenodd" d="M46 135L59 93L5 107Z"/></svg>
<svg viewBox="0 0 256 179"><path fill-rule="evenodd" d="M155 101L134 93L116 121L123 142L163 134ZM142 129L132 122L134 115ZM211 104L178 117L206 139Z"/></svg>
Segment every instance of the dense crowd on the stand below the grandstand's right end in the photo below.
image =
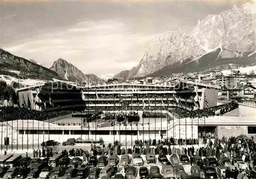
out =
<svg viewBox="0 0 256 179"><path fill-rule="evenodd" d="M209 108L204 108L204 109L198 109L195 111L187 111L182 108L173 108L170 109L170 113L175 113L177 114L180 118L201 118L203 116L208 117L208 116L215 116L215 115L222 115L225 114L229 111L232 111L234 109L237 109L239 107L239 104L232 101L231 103L215 106L215 107L209 107ZM220 111L218 114L216 112Z"/></svg>

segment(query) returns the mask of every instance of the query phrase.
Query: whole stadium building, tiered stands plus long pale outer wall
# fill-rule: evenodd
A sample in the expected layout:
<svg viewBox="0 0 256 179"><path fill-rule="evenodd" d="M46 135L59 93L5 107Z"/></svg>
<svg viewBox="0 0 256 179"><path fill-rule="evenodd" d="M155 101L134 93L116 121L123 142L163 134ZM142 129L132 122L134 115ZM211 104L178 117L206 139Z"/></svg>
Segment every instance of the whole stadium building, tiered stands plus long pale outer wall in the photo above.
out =
<svg viewBox="0 0 256 179"><path fill-rule="evenodd" d="M223 126L242 126L236 132L248 134L254 119L230 119L230 116L180 118L170 109L188 112L217 106L220 88L208 84L180 80L173 86L142 84L113 84L77 87L54 82L17 89L19 106L33 110L54 112L70 110L72 113L39 120L13 120L2 122L2 144L36 144L47 140L58 142L68 138L100 139L104 141L134 141L174 137L198 139L202 129L213 130L221 136ZM93 112L136 112L138 122L116 122L98 119L84 122L83 114ZM160 117L143 117L143 112L160 113ZM74 117L79 116L80 117ZM101 114L104 118L104 114ZM225 119L228 119L226 120ZM232 117L231 117L232 118ZM230 120L236 121L235 123ZM240 122L240 123L239 123ZM126 124L126 125L125 125ZM222 126L222 127L220 127ZM233 129L233 127L229 127ZM228 129L229 129L228 128ZM230 130L230 134L232 135Z"/></svg>

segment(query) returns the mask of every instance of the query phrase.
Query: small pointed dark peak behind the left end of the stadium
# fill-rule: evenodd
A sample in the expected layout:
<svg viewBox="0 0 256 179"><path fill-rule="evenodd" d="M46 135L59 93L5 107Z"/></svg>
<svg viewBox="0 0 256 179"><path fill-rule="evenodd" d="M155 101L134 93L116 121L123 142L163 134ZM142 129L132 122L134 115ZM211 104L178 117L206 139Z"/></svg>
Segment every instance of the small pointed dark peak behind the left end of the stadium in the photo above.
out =
<svg viewBox="0 0 256 179"><path fill-rule="evenodd" d="M71 82L77 82L77 83L79 82L82 82L84 84L88 83L88 74L84 74L77 67L75 67L71 63L61 58L54 61L50 69L53 71L56 71L62 79L65 79ZM98 84L98 83L104 83L104 81L100 79L98 76L96 76L95 74L90 73L89 83Z"/></svg>

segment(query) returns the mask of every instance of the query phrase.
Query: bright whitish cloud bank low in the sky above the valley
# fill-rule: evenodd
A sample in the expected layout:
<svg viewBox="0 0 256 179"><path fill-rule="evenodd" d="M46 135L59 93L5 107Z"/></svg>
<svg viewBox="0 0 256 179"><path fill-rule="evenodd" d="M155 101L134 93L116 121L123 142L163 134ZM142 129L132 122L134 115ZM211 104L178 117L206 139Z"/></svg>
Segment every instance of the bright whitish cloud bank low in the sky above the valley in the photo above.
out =
<svg viewBox="0 0 256 179"><path fill-rule="evenodd" d="M27 59L35 57L46 67L61 57L83 72L100 75L136 66L144 48L158 35L136 33L116 20L84 21L66 30L12 44L6 50Z"/></svg>

